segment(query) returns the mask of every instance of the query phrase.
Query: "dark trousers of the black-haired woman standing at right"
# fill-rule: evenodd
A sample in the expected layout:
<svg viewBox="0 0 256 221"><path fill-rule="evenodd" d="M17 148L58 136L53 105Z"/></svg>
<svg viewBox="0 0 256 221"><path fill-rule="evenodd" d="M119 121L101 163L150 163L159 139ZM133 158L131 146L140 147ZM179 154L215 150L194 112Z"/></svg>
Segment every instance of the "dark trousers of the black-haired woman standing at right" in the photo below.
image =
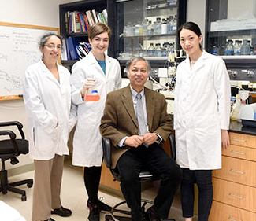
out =
<svg viewBox="0 0 256 221"><path fill-rule="evenodd" d="M182 168L182 180L180 184L180 195L183 216L190 218L194 209L194 185L198 186L198 221L207 221L210 215L210 208L213 203L213 184L211 170L191 171Z"/></svg>

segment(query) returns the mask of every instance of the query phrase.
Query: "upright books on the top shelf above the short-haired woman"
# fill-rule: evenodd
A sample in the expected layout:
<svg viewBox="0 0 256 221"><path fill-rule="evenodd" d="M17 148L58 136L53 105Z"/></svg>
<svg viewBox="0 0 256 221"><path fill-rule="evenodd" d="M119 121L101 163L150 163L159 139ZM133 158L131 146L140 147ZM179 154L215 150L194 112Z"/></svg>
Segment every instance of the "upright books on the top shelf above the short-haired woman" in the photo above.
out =
<svg viewBox="0 0 256 221"><path fill-rule="evenodd" d="M69 34L87 32L91 25L97 22L103 24L108 23L108 13L106 9L101 13L96 12L95 9L85 12L65 12L65 31Z"/></svg>

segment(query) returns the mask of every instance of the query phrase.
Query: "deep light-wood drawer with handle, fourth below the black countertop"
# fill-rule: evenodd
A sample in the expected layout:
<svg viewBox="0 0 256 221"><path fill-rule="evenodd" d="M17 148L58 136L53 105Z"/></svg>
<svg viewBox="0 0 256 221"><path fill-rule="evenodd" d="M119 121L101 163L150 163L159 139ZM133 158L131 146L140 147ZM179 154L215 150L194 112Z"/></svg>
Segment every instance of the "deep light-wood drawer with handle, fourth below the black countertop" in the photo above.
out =
<svg viewBox="0 0 256 221"><path fill-rule="evenodd" d="M256 188L213 178L213 200L256 212Z"/></svg>

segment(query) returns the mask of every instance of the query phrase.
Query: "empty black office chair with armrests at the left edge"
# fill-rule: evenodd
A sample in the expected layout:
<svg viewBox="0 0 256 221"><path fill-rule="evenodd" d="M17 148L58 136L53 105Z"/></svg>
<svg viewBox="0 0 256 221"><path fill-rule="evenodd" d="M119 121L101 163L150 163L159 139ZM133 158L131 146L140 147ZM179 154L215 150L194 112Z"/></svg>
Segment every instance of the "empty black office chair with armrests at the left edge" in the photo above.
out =
<svg viewBox="0 0 256 221"><path fill-rule="evenodd" d="M25 140L24 132L22 131L23 125L20 122L10 121L0 123L0 127L7 126L17 126L18 130L20 131L21 138L16 138L16 134L13 131L0 131L0 136L9 135L9 139L0 140L0 158L2 160L2 170L0 171L0 192L2 192L3 194L6 194L7 191L19 193L21 194L21 201L26 201L26 191L20 190L15 186L27 184L28 187L32 187L33 179L25 179L22 181L9 183L5 167L5 161L10 159L10 163L13 165L19 163L19 160L17 160L16 157L19 156L20 154L28 153L28 141Z"/></svg>

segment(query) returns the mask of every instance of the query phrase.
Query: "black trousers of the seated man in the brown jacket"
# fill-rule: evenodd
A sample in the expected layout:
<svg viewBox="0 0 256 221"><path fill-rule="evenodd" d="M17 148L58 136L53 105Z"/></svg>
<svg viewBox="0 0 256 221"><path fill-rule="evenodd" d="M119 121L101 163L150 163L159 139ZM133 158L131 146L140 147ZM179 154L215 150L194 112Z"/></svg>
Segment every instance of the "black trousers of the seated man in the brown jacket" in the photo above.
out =
<svg viewBox="0 0 256 221"><path fill-rule="evenodd" d="M121 175L121 190L132 211L132 220L141 220L141 187L139 173L147 168L161 179L157 197L154 199L154 210L161 210L169 202L172 204L174 194L180 184L180 167L170 158L165 150L157 144L129 149L117 162Z"/></svg>

